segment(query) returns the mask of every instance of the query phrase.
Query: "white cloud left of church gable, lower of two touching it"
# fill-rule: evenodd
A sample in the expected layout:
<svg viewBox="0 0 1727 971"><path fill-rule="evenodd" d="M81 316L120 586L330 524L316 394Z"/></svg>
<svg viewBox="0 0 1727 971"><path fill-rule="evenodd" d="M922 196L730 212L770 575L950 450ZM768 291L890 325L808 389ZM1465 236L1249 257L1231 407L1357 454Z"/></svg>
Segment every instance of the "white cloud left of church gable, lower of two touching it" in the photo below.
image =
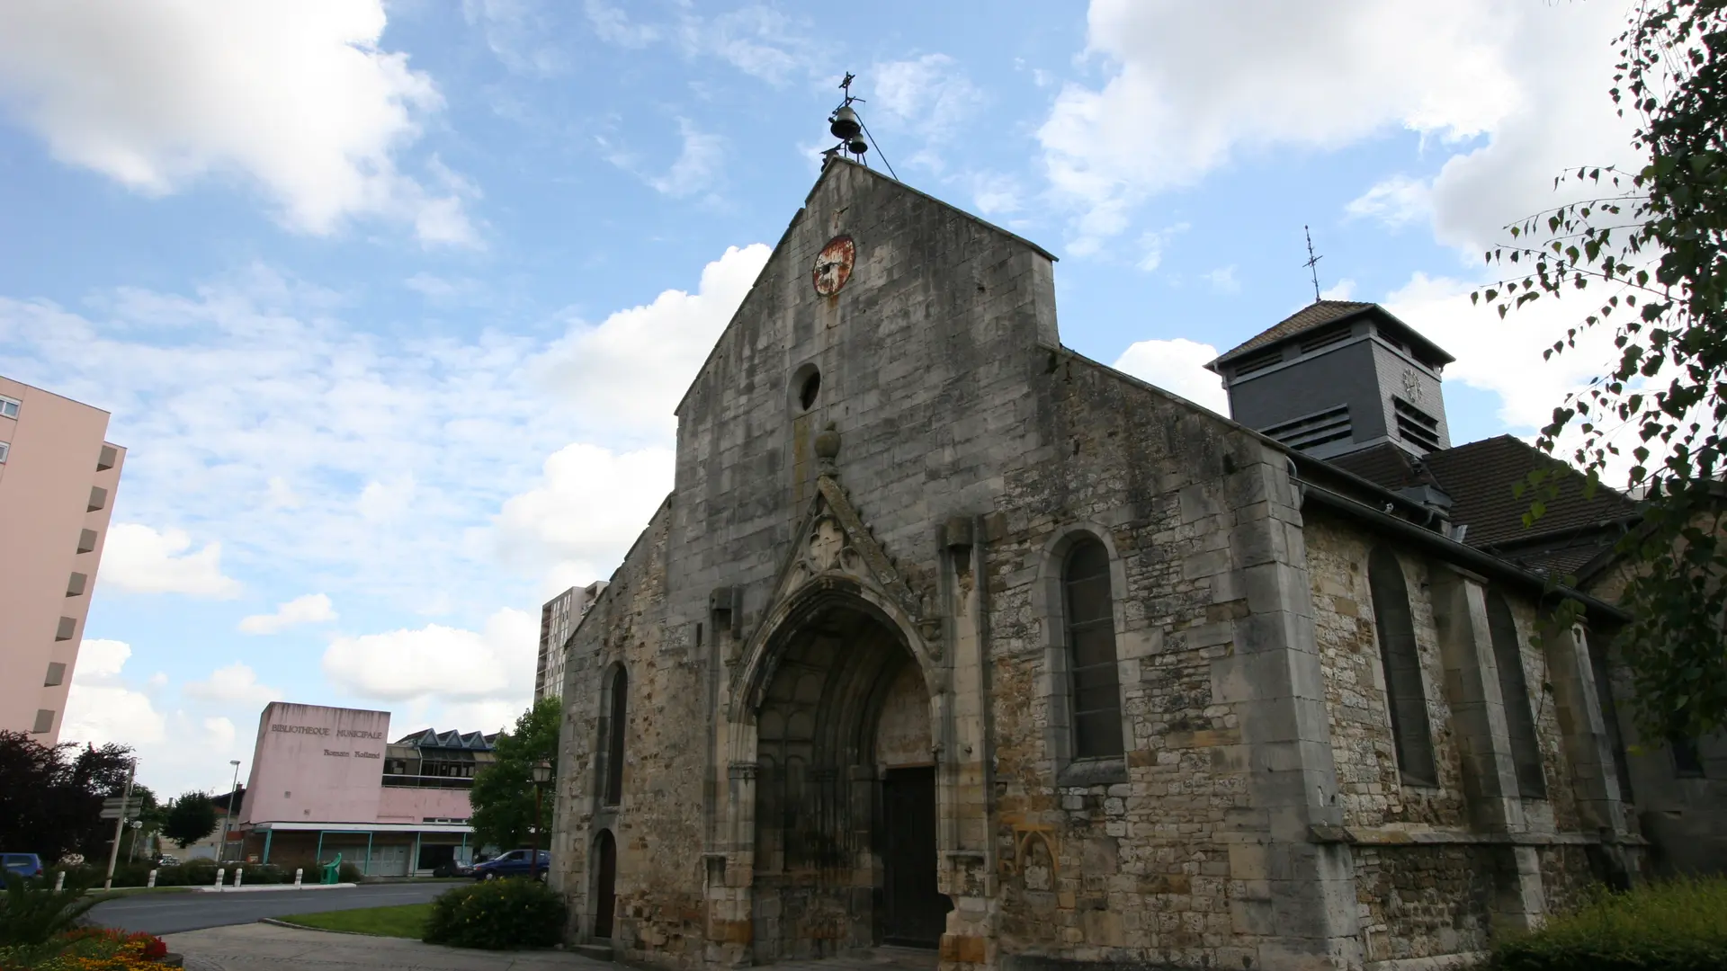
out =
<svg viewBox="0 0 1727 971"><path fill-rule="evenodd" d="M499 555L551 574L547 593L603 579L672 491L675 463L667 447L617 454L573 444L553 453L534 489L499 511Z"/></svg>

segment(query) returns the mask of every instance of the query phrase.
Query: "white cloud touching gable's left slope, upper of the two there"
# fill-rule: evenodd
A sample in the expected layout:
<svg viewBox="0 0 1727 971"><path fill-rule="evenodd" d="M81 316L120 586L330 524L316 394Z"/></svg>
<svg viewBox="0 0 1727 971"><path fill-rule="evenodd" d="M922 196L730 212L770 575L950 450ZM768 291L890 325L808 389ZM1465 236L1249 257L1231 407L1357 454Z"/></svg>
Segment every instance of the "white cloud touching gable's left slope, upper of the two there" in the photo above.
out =
<svg viewBox="0 0 1727 971"><path fill-rule="evenodd" d="M729 247L694 292L665 290L651 304L575 327L544 356L544 380L617 428L674 428L672 409L755 283L770 251Z"/></svg>

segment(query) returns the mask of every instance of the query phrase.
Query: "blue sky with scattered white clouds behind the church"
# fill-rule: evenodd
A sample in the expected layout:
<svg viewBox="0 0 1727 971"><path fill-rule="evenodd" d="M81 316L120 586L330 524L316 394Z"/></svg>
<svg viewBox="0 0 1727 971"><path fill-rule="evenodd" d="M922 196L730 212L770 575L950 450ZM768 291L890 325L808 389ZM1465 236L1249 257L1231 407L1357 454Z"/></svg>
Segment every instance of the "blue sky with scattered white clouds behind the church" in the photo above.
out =
<svg viewBox="0 0 1727 971"><path fill-rule="evenodd" d="M1554 175L1635 164L1603 0L12 0L0 375L130 449L66 714L225 791L271 700L392 733L530 701L539 605L672 482L672 408L819 175L1028 237L1062 342L1200 365L1314 299L1451 351L1452 441L1608 358L1471 308ZM1603 335L1604 337L1604 335Z"/></svg>

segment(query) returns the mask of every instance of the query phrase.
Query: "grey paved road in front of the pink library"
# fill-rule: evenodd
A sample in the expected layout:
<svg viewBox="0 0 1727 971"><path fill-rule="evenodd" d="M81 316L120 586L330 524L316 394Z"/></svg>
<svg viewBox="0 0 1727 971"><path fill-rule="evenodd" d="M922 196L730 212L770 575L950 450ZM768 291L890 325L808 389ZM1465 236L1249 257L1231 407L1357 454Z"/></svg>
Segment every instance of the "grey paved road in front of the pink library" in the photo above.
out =
<svg viewBox="0 0 1727 971"><path fill-rule="evenodd" d="M397 883L352 890L263 890L254 893L136 893L98 904L90 917L109 928L171 935L200 928L250 924L316 911L354 911L425 904L459 883Z"/></svg>

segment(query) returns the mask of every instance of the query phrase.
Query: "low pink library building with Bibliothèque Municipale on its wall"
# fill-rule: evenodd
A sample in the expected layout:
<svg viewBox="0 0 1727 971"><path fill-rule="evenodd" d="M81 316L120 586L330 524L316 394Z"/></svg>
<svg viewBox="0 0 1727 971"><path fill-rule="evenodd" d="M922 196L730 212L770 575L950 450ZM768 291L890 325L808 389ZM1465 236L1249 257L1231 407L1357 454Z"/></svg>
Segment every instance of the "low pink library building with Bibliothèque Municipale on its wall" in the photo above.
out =
<svg viewBox="0 0 1727 971"><path fill-rule="evenodd" d="M468 862L468 790L497 736L427 729L389 738L389 712L271 701L240 802L245 859L311 867L340 854L370 876Z"/></svg>

